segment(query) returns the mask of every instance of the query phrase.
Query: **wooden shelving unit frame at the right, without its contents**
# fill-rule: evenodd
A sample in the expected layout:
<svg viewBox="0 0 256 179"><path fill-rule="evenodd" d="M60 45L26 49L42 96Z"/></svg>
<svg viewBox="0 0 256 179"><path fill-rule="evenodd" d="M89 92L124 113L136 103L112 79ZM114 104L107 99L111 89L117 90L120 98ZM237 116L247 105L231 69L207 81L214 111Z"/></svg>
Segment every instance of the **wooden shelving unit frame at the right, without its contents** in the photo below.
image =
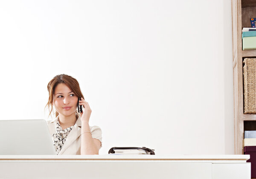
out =
<svg viewBox="0 0 256 179"><path fill-rule="evenodd" d="M256 130L256 114L244 114L243 96L243 60L256 58L256 50L242 50L242 28L251 27L252 17L256 0L232 0L235 154L244 154L244 131Z"/></svg>

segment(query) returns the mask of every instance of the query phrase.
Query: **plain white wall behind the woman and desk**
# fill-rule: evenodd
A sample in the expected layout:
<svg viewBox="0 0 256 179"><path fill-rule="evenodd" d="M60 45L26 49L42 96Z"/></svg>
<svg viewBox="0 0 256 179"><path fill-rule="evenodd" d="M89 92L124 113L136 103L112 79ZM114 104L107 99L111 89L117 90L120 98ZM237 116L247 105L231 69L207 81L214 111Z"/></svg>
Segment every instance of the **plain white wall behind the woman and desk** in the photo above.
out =
<svg viewBox="0 0 256 179"><path fill-rule="evenodd" d="M75 77L114 146L233 154L231 1L0 1L1 119L47 119Z"/></svg>

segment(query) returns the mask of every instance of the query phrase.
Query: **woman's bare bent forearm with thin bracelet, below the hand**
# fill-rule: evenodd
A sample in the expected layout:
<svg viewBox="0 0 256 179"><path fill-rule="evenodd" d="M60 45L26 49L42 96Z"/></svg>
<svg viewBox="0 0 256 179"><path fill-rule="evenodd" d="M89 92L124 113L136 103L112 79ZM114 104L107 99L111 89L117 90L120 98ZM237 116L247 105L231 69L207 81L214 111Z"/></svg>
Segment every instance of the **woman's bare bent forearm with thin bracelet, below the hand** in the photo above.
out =
<svg viewBox="0 0 256 179"><path fill-rule="evenodd" d="M90 131L89 122L82 121L81 127L81 155L98 155L101 143L99 140L93 139L90 132L86 132Z"/></svg>

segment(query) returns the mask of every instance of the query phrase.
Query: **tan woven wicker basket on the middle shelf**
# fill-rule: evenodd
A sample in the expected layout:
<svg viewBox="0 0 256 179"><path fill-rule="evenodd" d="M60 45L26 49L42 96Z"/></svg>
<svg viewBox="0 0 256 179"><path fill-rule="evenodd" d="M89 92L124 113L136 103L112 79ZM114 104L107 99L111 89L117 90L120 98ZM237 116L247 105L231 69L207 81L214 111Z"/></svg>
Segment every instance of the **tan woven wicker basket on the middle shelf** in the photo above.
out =
<svg viewBox="0 0 256 179"><path fill-rule="evenodd" d="M256 58L244 59L244 113L256 114Z"/></svg>

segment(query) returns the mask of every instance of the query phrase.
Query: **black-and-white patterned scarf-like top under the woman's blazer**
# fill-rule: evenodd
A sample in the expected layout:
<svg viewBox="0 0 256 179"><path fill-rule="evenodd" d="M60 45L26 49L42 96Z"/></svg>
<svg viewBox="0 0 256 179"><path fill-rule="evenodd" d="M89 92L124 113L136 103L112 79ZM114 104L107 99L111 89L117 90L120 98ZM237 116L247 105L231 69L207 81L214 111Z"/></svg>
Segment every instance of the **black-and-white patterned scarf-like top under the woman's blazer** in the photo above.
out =
<svg viewBox="0 0 256 179"><path fill-rule="evenodd" d="M52 135L52 141L53 141L53 145L55 147L57 155L61 151L61 148L63 147L64 142L67 139L67 135L70 133L73 127L74 126L70 126L63 130L61 128L60 123L57 122L57 125L56 125L57 133Z"/></svg>

